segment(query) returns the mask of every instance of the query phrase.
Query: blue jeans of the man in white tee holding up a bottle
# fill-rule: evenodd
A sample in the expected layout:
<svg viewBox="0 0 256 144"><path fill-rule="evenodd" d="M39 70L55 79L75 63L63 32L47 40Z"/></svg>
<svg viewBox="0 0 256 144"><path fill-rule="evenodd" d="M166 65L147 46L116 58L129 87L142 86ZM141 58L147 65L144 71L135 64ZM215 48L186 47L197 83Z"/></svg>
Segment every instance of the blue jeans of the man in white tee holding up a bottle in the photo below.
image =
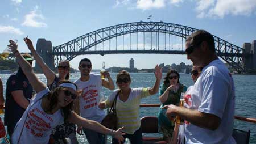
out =
<svg viewBox="0 0 256 144"><path fill-rule="evenodd" d="M84 130L87 141L90 144L104 144L105 143L105 135L104 134L95 132L90 129L85 129L85 128L82 128L82 130Z"/></svg>

